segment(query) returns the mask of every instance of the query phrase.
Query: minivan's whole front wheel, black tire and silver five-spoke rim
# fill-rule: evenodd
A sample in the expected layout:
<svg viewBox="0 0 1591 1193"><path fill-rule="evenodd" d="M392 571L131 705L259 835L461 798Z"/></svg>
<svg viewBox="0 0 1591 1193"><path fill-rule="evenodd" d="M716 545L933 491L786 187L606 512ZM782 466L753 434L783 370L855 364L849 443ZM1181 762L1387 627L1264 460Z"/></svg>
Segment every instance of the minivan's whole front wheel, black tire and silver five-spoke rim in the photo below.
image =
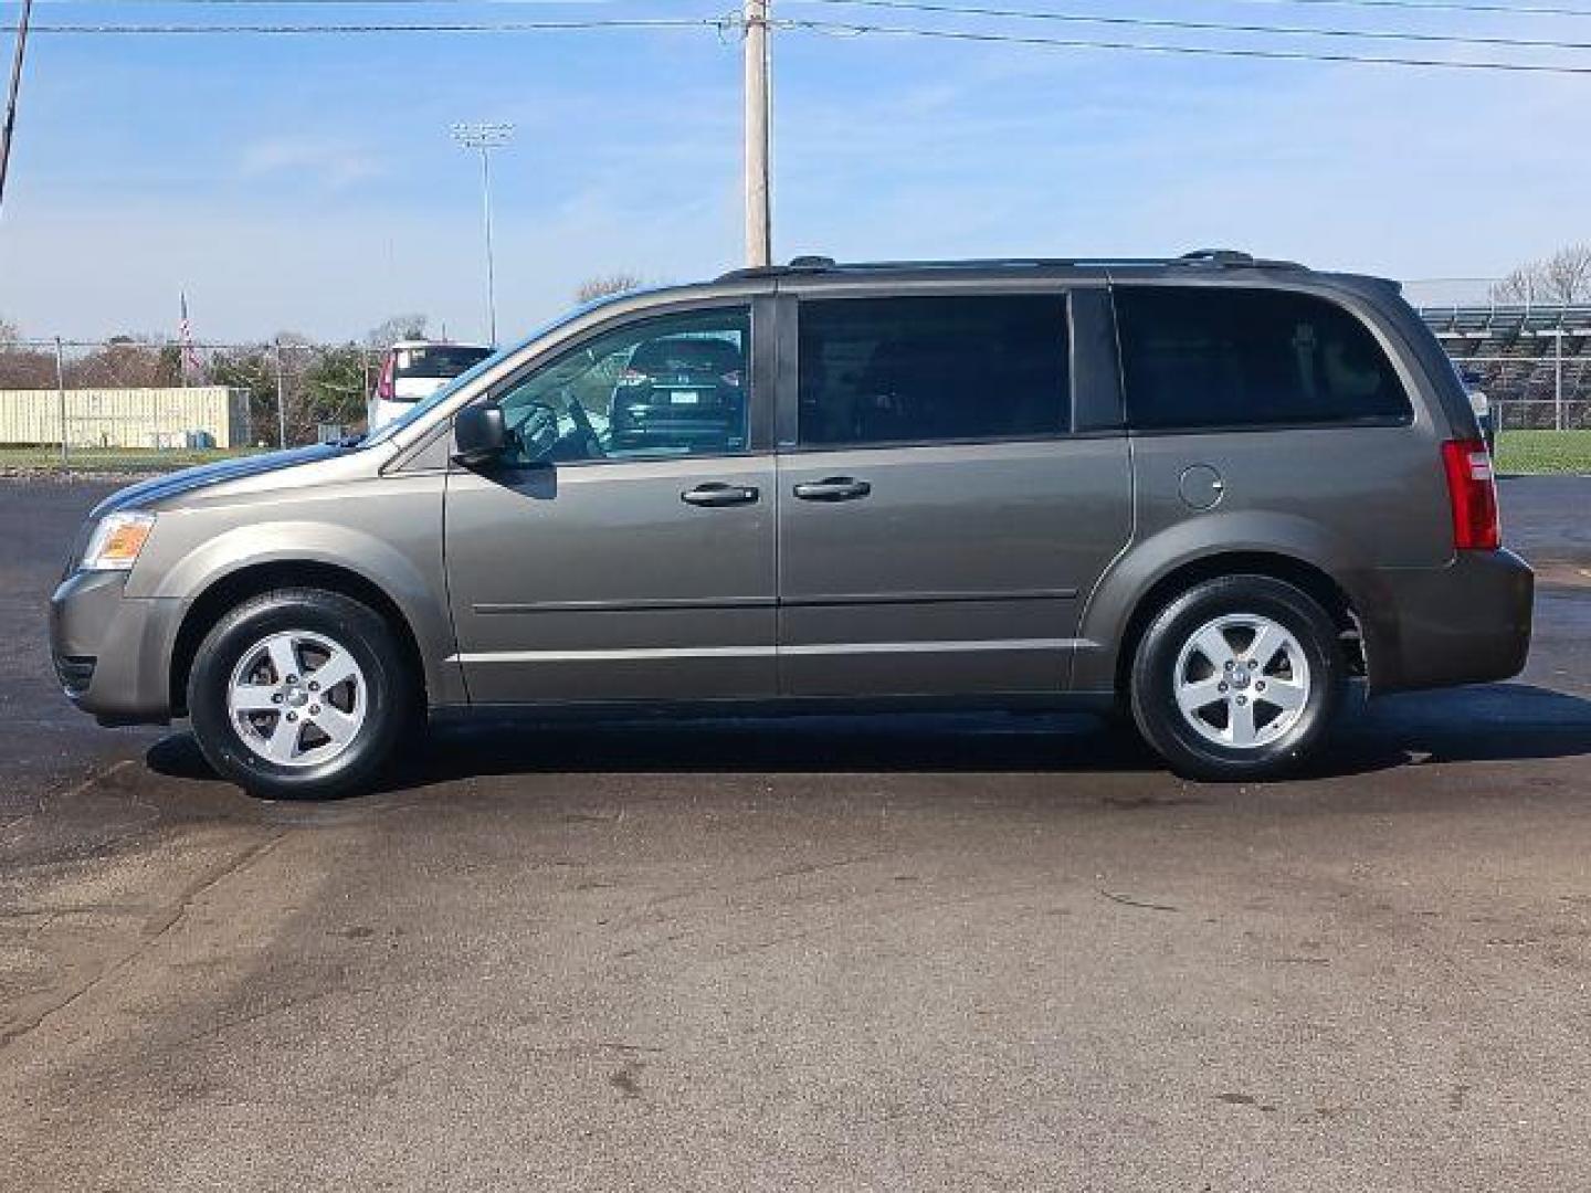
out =
<svg viewBox="0 0 1591 1193"><path fill-rule="evenodd" d="M387 622L334 592L285 589L205 636L188 713L205 759L255 795L325 799L371 786L398 749L414 687Z"/></svg>

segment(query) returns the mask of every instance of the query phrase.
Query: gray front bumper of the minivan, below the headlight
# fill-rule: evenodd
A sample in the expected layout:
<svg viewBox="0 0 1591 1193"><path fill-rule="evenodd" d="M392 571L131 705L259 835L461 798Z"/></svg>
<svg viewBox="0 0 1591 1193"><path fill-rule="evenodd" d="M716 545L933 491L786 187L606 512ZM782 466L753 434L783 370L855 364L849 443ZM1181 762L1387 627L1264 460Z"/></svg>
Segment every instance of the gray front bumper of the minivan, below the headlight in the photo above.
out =
<svg viewBox="0 0 1591 1193"><path fill-rule="evenodd" d="M49 652L67 697L103 724L172 719L181 601L126 595L127 573L68 576L49 598Z"/></svg>

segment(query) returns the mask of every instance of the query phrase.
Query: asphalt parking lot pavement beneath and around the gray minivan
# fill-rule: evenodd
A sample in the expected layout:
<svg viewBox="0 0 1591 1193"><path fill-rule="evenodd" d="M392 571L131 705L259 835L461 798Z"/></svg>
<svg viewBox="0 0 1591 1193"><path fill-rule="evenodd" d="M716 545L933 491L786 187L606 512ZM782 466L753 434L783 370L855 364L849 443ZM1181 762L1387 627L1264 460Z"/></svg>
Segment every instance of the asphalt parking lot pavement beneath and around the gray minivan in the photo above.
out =
<svg viewBox="0 0 1591 1193"><path fill-rule="evenodd" d="M506 722L272 805L65 706L95 493L0 482L0 1188L1585 1188L1591 479L1502 495L1526 674L1305 779Z"/></svg>

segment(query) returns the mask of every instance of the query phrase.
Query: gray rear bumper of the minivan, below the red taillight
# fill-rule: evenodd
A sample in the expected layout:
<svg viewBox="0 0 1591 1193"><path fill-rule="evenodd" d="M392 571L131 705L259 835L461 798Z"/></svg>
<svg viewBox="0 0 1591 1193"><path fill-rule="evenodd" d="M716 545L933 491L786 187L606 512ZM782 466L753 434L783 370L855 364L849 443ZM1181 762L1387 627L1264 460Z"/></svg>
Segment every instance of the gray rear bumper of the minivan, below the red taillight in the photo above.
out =
<svg viewBox="0 0 1591 1193"><path fill-rule="evenodd" d="M1535 573L1511 550L1461 550L1445 568L1376 573L1362 603L1373 694L1511 679L1531 651Z"/></svg>

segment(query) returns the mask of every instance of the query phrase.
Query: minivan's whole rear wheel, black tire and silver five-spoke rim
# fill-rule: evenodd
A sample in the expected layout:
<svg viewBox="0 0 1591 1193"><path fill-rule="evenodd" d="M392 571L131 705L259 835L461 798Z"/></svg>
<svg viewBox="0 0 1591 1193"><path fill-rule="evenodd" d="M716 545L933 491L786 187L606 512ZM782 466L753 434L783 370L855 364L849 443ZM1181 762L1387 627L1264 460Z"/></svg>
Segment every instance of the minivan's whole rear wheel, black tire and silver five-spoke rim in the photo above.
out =
<svg viewBox="0 0 1591 1193"><path fill-rule="evenodd" d="M1271 778L1319 749L1346 678L1336 627L1309 593L1223 576L1149 624L1133 659L1133 719L1181 775Z"/></svg>

